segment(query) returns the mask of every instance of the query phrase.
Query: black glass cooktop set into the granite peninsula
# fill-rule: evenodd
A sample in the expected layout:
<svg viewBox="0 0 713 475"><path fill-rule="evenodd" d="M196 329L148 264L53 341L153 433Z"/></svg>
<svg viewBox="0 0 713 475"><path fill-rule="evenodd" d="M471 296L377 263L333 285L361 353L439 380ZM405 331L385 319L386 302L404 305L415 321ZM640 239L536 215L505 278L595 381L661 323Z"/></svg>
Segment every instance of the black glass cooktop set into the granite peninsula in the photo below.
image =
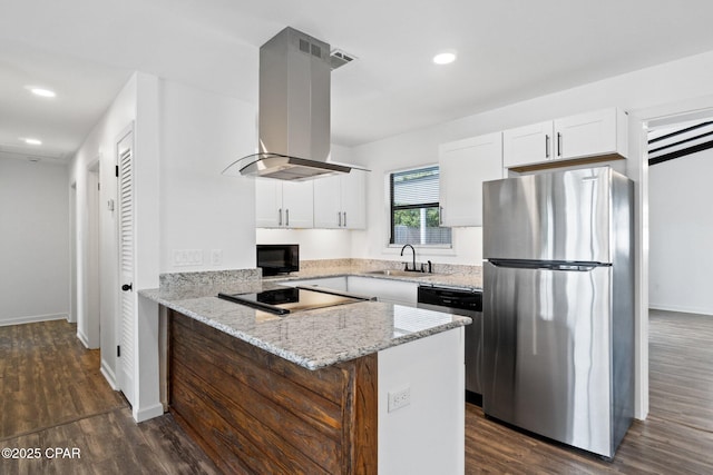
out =
<svg viewBox="0 0 713 475"><path fill-rule="evenodd" d="M218 298L246 305L260 310L270 311L276 315L285 315L300 310L312 310L315 308L333 307L335 305L354 304L356 301L370 300L369 297L356 296L346 293L324 288L304 287L280 287L272 290L264 290L252 294L224 294L219 293Z"/></svg>

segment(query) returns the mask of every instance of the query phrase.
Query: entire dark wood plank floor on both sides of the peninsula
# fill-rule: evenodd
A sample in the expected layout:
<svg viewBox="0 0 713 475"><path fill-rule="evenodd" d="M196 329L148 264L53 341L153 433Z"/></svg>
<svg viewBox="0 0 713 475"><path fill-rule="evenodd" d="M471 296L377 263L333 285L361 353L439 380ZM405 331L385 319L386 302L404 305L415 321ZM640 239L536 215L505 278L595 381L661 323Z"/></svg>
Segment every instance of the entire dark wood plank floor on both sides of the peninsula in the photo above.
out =
<svg viewBox="0 0 713 475"><path fill-rule="evenodd" d="M649 327L649 415L634 422L613 462L466 404L466 473L712 474L713 317L652 311ZM170 415L134 423L98 368L99 353L84 349L66 321L0 327L0 448L42 451L0 459L0 474L218 473ZM76 447L81 458L48 458L55 447Z"/></svg>

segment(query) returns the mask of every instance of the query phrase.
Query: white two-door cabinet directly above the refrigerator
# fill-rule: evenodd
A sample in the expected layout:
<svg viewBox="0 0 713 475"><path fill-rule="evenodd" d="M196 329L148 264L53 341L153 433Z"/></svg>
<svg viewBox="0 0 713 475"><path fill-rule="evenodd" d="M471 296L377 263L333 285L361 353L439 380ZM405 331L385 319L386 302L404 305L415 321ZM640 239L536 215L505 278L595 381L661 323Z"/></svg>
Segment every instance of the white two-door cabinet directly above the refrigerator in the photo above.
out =
<svg viewBox="0 0 713 475"><path fill-rule="evenodd" d="M555 160L626 158L627 120L611 108L565 117L502 132L502 161L507 168L556 166Z"/></svg>

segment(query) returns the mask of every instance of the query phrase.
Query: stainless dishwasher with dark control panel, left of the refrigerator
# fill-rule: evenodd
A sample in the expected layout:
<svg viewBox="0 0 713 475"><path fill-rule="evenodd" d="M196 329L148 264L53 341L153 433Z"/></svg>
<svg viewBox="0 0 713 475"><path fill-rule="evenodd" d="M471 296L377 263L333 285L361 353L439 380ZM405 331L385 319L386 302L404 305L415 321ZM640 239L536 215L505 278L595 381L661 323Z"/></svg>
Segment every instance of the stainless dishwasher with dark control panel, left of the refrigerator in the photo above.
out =
<svg viewBox="0 0 713 475"><path fill-rule="evenodd" d="M481 406L482 290L421 285L418 307L472 319L466 325L466 400Z"/></svg>

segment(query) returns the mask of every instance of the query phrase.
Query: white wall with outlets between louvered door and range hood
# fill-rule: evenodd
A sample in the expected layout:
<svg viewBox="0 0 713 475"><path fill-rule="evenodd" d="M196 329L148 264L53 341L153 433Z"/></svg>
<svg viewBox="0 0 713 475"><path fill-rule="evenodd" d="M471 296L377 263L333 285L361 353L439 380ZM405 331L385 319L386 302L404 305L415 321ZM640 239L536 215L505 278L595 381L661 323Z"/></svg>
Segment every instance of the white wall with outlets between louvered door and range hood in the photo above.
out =
<svg viewBox="0 0 713 475"><path fill-rule="evenodd" d="M254 182L221 175L255 148L254 106L139 75L137 112L135 288L157 287L163 273L254 268ZM201 263L174 260L183 250ZM131 409L140 422L163 414L159 329L156 303L135 304Z"/></svg>

